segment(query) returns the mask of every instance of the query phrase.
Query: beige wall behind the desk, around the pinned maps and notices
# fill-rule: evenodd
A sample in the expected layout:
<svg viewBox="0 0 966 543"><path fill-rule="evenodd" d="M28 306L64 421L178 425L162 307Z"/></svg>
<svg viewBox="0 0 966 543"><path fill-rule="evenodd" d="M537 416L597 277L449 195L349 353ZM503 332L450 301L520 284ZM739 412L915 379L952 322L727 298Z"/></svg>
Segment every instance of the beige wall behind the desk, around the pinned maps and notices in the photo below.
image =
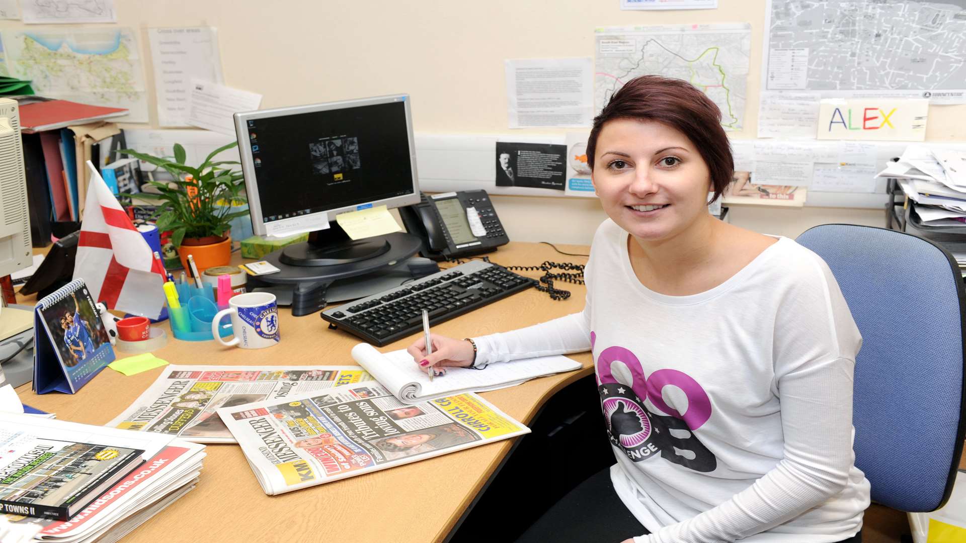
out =
<svg viewBox="0 0 966 543"><path fill-rule="evenodd" d="M753 138L756 133L764 0L723 0L718 10L679 12L623 12L618 0L117 0L116 4L119 24L141 30L138 39L149 88L153 88L153 74L143 29L211 25L218 29L226 84L263 94L263 107L405 92L412 95L414 129L424 133L510 131L503 60L593 56L595 26L747 21L753 37L749 106L745 129L733 136ZM11 26L19 24L4 22L0 29ZM154 121L154 101L151 115ZM964 139L964 119L966 105L933 106L927 138ZM596 201L518 196L495 201L511 239L522 241L587 243L603 218ZM883 216L878 210L743 207L732 209L731 221L794 236L823 222L882 225Z"/></svg>

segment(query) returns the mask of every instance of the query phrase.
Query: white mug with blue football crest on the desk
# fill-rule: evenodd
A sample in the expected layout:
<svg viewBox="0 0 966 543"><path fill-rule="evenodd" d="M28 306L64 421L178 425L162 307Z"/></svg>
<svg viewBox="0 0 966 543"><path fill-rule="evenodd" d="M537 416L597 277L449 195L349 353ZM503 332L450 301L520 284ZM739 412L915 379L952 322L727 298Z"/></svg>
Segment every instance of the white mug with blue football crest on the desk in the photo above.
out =
<svg viewBox="0 0 966 543"><path fill-rule="evenodd" d="M249 292L233 296L229 307L214 315L212 335L222 345L238 345L242 349L264 349L279 341L278 304L275 295L267 292ZM232 316L235 337L231 341L221 339L218 328L225 315Z"/></svg>

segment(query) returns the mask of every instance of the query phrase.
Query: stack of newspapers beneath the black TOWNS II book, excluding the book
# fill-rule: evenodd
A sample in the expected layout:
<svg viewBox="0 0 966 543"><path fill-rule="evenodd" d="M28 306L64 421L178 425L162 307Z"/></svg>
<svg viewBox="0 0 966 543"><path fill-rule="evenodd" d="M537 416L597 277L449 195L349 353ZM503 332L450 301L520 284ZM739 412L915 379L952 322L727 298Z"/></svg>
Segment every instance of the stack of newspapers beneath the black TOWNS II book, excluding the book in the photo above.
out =
<svg viewBox="0 0 966 543"><path fill-rule="evenodd" d="M31 421L29 429L24 429L25 419ZM145 462L121 476L113 486L99 493L92 491L94 500L86 500L85 506L73 507L74 515L66 522L53 517L0 514L0 521L23 529L40 529L37 541L116 541L194 488L205 457L205 445L173 440L171 436L39 419L36 415L0 415L0 428L12 427L42 439L52 437L55 441L99 443L145 451L141 455ZM5 462L6 459L0 459L0 465Z"/></svg>

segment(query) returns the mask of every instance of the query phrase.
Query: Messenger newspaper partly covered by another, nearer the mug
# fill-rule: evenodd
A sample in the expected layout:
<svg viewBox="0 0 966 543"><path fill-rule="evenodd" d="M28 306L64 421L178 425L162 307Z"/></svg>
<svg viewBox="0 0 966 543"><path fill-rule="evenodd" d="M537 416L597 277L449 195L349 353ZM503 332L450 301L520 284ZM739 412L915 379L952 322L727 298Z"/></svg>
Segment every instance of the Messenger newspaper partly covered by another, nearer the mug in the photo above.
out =
<svg viewBox="0 0 966 543"><path fill-rule="evenodd" d="M169 365L107 426L172 434L194 443L236 443L216 409L371 379L359 366Z"/></svg>

